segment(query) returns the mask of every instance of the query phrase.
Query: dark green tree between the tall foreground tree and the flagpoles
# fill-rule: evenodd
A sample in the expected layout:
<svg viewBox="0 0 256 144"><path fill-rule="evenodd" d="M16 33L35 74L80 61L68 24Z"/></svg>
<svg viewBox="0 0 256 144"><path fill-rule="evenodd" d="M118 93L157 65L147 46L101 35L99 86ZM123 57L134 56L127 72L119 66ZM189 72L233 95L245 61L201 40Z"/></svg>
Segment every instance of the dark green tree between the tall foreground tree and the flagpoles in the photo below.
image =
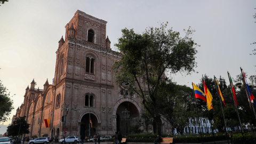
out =
<svg viewBox="0 0 256 144"><path fill-rule="evenodd" d="M172 87L171 85L166 85L166 88ZM189 120L196 116L194 113L194 93L193 90L186 85L175 85L174 88L174 90L169 92L161 91L163 97L160 113L179 133L183 134L185 127L190 123Z"/></svg>

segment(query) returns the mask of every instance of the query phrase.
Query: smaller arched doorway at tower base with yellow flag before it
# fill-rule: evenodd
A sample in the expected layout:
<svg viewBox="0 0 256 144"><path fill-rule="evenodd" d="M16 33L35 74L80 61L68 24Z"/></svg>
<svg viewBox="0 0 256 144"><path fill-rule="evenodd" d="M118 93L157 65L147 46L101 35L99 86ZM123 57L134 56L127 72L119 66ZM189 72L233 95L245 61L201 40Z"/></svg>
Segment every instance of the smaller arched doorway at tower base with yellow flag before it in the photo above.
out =
<svg viewBox="0 0 256 144"><path fill-rule="evenodd" d="M91 113L90 116L91 116L92 124L89 121L89 113L82 116L81 125L80 125L80 135L93 136L95 133L97 133L96 128L99 126L98 118L93 113ZM90 129L90 133L89 133L89 129Z"/></svg>

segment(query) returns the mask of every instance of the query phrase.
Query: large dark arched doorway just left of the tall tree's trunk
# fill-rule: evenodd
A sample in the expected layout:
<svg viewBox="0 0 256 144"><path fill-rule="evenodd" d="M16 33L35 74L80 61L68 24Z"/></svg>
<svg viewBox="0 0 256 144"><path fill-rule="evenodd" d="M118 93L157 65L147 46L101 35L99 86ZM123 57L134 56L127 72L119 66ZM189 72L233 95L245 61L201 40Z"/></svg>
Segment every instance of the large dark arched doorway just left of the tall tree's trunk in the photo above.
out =
<svg viewBox="0 0 256 144"><path fill-rule="evenodd" d="M125 110L130 111L130 114L123 113ZM116 115L116 130L126 135L131 133L131 126L136 124L140 114L137 106L130 101L124 101L117 107Z"/></svg>

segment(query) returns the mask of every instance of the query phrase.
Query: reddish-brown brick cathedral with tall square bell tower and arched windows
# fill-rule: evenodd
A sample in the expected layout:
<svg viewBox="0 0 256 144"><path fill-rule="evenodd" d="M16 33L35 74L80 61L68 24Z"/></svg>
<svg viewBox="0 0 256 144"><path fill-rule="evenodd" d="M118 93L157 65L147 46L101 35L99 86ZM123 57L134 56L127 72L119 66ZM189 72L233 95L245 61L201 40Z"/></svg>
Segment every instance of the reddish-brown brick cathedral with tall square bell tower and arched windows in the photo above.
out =
<svg viewBox="0 0 256 144"><path fill-rule="evenodd" d="M30 133L23 137L62 139L65 123L61 117L66 114L67 136L89 135L89 129L90 135L130 133L130 125L135 125L140 116L141 99L135 94L124 98L124 88L115 83L113 63L122 54L111 50L106 24L107 21L79 10L67 23L65 39L61 37L56 51L53 83L46 80L41 90L35 87L33 79L13 117L26 116ZM122 114L125 109L133 118L126 120ZM50 127L45 126L44 119L50 119ZM148 129L156 132L155 125ZM171 133L171 125L162 121L162 131Z"/></svg>

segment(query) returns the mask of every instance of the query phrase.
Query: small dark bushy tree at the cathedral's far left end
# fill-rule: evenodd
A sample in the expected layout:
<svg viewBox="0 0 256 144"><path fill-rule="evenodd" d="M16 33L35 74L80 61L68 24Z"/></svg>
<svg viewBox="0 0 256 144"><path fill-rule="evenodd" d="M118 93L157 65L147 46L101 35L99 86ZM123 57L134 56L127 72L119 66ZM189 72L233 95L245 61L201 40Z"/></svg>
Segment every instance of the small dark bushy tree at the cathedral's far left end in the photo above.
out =
<svg viewBox="0 0 256 144"><path fill-rule="evenodd" d="M29 133L29 125L26 121L26 116L15 118L12 125L7 127L8 135L17 136Z"/></svg>

